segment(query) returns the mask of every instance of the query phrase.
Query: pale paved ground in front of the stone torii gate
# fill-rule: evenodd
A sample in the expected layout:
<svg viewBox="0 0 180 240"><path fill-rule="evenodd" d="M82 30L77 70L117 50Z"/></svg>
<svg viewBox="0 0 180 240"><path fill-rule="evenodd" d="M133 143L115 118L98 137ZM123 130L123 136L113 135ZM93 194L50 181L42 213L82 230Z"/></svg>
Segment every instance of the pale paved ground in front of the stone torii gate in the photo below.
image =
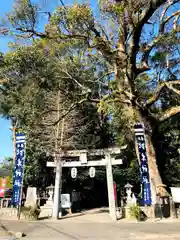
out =
<svg viewBox="0 0 180 240"><path fill-rule="evenodd" d="M1 221L28 240L180 240L180 221L112 222L108 215L89 214L58 221Z"/></svg>

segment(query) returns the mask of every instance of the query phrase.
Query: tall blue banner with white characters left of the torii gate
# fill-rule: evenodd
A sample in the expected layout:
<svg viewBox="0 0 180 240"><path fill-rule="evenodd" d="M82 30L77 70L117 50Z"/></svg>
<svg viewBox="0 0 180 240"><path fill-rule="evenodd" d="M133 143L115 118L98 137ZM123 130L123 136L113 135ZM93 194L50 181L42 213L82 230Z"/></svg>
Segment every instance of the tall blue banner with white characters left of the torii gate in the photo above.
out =
<svg viewBox="0 0 180 240"><path fill-rule="evenodd" d="M23 172L25 163L25 135L16 133L16 160L13 173L13 197L14 207L21 205L21 189L23 184Z"/></svg>

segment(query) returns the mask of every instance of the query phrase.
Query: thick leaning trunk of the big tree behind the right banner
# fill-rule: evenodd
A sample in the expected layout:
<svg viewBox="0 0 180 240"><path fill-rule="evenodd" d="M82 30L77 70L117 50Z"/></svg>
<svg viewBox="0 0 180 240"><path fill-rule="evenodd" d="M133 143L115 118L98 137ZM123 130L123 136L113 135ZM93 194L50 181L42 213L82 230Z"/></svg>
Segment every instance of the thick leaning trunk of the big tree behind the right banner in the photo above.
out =
<svg viewBox="0 0 180 240"><path fill-rule="evenodd" d="M148 127L148 132L146 132L146 145L149 165L149 176L151 182L152 200L154 203L156 203L156 194L159 193L161 196L164 196L167 195L167 191L165 189L165 185L163 185L162 183L160 172L157 166L156 153L152 142L151 132L154 126L152 126L153 124L149 121L148 115L144 116L146 113L141 112L139 106L136 105L135 99L133 99L133 97L131 98L131 96L133 95L136 96L134 86L135 76L133 69L130 67L131 64L128 64L126 62L126 59L128 59L128 57L126 56L123 37L119 38L118 50L119 59L121 61L116 61L116 63L114 64L114 72L117 88L121 92L120 101L124 102L122 107L125 109L126 115L128 115L129 118L133 118L134 123L140 121ZM129 79L127 73L132 79ZM123 94L123 92L125 94ZM131 104L125 104L125 100L127 100L127 93L130 96Z"/></svg>

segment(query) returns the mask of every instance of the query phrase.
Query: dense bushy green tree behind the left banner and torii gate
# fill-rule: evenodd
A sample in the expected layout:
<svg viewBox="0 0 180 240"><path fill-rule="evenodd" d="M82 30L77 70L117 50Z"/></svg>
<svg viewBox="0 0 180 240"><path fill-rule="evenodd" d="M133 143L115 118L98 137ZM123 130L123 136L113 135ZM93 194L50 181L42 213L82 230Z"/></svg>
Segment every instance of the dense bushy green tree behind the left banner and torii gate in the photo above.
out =
<svg viewBox="0 0 180 240"><path fill-rule="evenodd" d="M52 181L52 170L46 168L47 155L60 148L100 148L109 141L106 118L97 112L96 105L84 99L76 104L86 96L86 91L81 92L82 82L95 95L103 91L98 82L94 83L95 74L98 78L101 71L95 70L93 61L88 61L75 43L69 48L43 44L36 40L30 46L14 47L3 56L0 67L1 79L6 79L0 86L0 114L14 119L17 131L25 131L24 184L37 187ZM64 121L59 121L60 117Z"/></svg>

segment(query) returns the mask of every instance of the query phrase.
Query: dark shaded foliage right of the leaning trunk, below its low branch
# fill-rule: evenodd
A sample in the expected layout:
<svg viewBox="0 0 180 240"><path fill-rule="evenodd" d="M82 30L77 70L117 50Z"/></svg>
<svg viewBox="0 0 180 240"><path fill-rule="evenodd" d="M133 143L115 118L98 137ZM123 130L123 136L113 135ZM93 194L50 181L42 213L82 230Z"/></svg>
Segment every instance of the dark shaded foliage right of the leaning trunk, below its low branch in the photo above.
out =
<svg viewBox="0 0 180 240"><path fill-rule="evenodd" d="M180 185L179 129L179 115L177 115L162 124L154 136L159 167L167 186Z"/></svg>

